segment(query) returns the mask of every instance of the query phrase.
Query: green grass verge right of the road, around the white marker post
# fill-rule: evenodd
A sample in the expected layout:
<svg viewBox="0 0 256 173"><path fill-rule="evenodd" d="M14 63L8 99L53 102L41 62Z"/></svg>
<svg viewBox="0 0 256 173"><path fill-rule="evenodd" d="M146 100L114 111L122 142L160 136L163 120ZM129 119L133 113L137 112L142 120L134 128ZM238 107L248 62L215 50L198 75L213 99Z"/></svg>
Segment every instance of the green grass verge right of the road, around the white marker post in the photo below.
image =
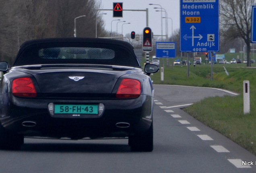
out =
<svg viewBox="0 0 256 173"><path fill-rule="evenodd" d="M229 76L223 68L227 69ZM252 67L256 64L252 64ZM214 87L234 91L240 95L204 99L184 109L205 125L219 131L256 155L256 68L246 64L214 64L213 80L209 64L164 68L164 81L160 72L151 75L154 84L175 84L196 87ZM244 115L243 81L250 81L250 113Z"/></svg>

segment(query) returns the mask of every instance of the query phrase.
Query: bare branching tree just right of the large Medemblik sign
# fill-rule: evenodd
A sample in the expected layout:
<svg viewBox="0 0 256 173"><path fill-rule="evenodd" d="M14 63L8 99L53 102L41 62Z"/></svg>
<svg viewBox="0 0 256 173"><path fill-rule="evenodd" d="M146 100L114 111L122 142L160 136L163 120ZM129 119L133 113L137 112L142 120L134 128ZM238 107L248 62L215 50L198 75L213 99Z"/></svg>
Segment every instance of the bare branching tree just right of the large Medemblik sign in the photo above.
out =
<svg viewBox="0 0 256 173"><path fill-rule="evenodd" d="M220 21L223 37L242 38L247 46L247 66L250 66L251 13L255 0L220 0Z"/></svg>

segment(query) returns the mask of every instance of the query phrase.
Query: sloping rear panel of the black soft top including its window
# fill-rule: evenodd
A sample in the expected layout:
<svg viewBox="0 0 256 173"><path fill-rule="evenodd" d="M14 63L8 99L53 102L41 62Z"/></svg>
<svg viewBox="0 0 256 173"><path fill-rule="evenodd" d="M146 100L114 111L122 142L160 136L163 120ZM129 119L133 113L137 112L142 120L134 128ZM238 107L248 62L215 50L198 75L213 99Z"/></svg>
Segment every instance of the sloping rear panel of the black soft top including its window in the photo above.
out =
<svg viewBox="0 0 256 173"><path fill-rule="evenodd" d="M132 50L133 51L133 50ZM140 67L125 46L96 43L32 44L21 50L13 66L35 64L103 64Z"/></svg>

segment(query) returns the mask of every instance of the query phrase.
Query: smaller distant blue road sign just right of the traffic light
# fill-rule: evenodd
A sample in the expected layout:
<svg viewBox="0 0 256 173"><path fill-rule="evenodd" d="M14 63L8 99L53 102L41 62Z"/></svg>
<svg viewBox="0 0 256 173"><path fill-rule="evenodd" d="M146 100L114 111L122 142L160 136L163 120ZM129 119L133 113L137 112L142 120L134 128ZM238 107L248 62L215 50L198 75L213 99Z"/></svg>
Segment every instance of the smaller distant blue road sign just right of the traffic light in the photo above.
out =
<svg viewBox="0 0 256 173"><path fill-rule="evenodd" d="M176 42L156 42L157 58L175 58Z"/></svg>

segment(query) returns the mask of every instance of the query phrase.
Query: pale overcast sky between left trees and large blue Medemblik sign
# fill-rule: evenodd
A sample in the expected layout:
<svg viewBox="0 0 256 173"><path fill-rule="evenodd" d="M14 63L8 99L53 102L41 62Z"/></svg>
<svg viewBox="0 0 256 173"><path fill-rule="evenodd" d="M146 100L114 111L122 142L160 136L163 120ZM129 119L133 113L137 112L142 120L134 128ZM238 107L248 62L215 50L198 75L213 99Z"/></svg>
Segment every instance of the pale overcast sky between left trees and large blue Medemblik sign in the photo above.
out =
<svg viewBox="0 0 256 173"><path fill-rule="evenodd" d="M164 8L162 11L167 12L168 22L168 35L171 36L172 28L173 32L180 28L180 0L98 0L101 2L101 9L113 9L113 2L123 2L123 10L146 10L149 9L149 27L151 28L154 35L161 35L161 12L156 12L154 7ZM149 5L159 4L159 5ZM107 14L102 14L107 13ZM134 12L134 11L123 11L122 18L114 18L112 11L100 10L99 14L103 15L105 21L105 29L111 31L111 21L120 19L120 21L112 22L112 32L123 34L131 33L135 31L136 34L142 34L143 29L146 27L146 12ZM162 12L165 17L165 12ZM126 22L122 22L126 21ZM163 18L163 34L166 34L165 29L165 18ZM172 22L173 21L173 22ZM130 24L126 24L130 23ZM173 26L172 26L173 23Z"/></svg>

